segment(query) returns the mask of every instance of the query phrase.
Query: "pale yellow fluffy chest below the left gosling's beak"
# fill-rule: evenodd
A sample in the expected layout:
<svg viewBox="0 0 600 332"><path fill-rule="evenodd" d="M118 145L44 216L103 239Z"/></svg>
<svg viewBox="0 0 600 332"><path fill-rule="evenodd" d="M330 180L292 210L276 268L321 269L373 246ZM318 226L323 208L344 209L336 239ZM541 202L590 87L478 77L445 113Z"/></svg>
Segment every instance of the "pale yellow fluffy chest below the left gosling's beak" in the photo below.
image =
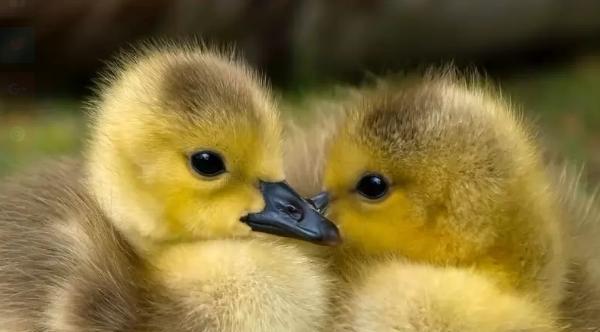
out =
<svg viewBox="0 0 600 332"><path fill-rule="evenodd" d="M206 241L161 254L156 280L220 331L310 331L326 317L321 264L292 245Z"/></svg>

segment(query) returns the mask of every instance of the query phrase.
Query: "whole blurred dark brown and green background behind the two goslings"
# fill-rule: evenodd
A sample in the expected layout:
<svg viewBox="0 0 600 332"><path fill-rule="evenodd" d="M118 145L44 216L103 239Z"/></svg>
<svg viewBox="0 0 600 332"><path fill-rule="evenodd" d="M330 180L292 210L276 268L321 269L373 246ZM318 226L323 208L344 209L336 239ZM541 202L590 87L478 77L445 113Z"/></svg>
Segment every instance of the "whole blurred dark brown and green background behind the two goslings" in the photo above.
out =
<svg viewBox="0 0 600 332"><path fill-rule="evenodd" d="M452 61L600 180L597 0L0 0L0 175L77 154L103 61L148 38L235 43L289 103Z"/></svg>

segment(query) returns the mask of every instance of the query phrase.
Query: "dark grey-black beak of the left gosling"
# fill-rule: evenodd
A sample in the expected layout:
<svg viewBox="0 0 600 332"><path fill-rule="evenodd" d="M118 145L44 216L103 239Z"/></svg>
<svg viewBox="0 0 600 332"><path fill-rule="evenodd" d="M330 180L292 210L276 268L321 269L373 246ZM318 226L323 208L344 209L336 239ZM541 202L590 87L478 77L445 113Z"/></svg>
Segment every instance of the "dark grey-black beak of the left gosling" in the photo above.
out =
<svg viewBox="0 0 600 332"><path fill-rule="evenodd" d="M241 219L253 231L322 245L341 242L337 227L319 213L318 205L300 197L287 183L261 181L260 191L265 209Z"/></svg>

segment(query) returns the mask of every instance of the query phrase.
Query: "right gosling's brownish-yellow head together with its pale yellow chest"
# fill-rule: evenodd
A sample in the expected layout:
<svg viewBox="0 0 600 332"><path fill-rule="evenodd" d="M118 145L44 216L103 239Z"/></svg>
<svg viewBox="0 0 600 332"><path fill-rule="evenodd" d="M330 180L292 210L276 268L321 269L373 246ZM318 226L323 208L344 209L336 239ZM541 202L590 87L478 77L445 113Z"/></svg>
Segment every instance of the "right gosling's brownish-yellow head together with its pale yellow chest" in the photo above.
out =
<svg viewBox="0 0 600 332"><path fill-rule="evenodd" d="M349 100L323 158L349 293L336 321L357 331L552 331L566 273L561 211L510 106L443 76Z"/></svg>

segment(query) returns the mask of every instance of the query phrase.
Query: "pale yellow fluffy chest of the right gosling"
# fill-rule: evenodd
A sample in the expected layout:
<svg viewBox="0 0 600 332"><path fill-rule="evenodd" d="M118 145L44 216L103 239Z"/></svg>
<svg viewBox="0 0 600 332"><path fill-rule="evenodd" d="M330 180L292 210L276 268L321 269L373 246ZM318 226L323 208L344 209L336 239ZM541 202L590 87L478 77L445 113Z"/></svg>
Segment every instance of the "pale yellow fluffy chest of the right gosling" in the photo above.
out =
<svg viewBox="0 0 600 332"><path fill-rule="evenodd" d="M334 331L550 332L549 308L472 270L390 259L343 290Z"/></svg>

